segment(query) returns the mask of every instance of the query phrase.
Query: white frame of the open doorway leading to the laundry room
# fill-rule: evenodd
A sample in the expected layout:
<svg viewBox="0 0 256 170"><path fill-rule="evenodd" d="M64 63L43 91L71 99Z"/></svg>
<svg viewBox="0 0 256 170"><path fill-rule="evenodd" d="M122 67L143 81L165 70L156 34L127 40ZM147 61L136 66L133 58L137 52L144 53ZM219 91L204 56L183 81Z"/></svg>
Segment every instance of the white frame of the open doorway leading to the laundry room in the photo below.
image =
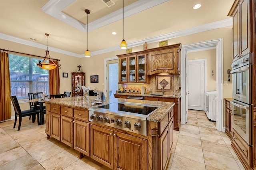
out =
<svg viewBox="0 0 256 170"><path fill-rule="evenodd" d="M224 132L223 127L223 39L209 40L205 42L182 45L181 49L181 123L186 123L186 113L188 113L188 96L186 93L186 70L188 63L186 57L189 50L202 49L206 47L216 47L216 128Z"/></svg>

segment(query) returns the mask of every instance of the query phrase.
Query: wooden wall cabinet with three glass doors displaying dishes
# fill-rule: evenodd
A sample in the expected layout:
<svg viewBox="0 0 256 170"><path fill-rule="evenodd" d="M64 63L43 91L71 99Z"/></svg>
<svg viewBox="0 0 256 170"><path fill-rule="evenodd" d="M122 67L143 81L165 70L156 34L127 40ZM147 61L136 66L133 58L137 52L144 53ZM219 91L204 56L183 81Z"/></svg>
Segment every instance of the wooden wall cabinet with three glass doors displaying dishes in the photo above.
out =
<svg viewBox="0 0 256 170"><path fill-rule="evenodd" d="M146 53L129 53L119 57L119 83L147 83Z"/></svg>

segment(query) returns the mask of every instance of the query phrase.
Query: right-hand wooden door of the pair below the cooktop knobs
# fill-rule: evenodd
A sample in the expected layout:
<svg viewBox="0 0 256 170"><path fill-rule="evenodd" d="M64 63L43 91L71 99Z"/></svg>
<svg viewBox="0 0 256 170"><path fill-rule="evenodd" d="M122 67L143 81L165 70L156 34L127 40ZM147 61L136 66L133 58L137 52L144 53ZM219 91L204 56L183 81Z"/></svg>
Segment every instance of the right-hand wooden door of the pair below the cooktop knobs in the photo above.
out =
<svg viewBox="0 0 256 170"><path fill-rule="evenodd" d="M147 148L147 140L114 131L114 169L147 170Z"/></svg>

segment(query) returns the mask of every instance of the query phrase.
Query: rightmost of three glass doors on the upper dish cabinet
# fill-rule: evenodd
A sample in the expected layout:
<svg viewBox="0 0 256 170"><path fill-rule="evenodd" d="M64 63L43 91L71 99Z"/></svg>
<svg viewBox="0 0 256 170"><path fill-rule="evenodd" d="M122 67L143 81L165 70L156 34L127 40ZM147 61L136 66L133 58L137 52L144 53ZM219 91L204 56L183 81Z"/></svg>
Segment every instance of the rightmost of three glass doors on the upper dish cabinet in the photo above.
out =
<svg viewBox="0 0 256 170"><path fill-rule="evenodd" d="M145 62L145 54L137 55L137 82L138 83L145 83L146 82L146 62Z"/></svg>

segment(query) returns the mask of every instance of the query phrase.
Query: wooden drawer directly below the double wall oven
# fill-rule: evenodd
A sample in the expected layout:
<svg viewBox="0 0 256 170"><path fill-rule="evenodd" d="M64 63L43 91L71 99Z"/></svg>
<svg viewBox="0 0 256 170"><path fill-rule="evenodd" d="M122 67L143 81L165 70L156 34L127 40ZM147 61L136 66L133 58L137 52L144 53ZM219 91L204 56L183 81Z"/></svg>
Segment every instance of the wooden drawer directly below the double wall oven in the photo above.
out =
<svg viewBox="0 0 256 170"><path fill-rule="evenodd" d="M234 130L234 138L233 138L233 144L236 147L237 152L240 154L242 158L247 162L247 164L250 164L250 152L251 147L240 137L240 135Z"/></svg>

